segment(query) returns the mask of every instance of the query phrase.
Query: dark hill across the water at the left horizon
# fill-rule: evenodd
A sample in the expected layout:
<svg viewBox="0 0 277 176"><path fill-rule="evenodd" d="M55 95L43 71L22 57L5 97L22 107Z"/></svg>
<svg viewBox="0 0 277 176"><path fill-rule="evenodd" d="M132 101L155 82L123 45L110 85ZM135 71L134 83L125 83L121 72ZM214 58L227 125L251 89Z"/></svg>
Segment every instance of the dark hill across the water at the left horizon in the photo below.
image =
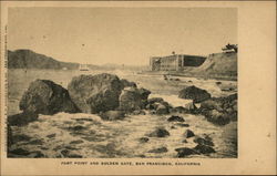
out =
<svg viewBox="0 0 277 176"><path fill-rule="evenodd" d="M31 50L8 51L8 69L79 69L79 63L60 62Z"/></svg>

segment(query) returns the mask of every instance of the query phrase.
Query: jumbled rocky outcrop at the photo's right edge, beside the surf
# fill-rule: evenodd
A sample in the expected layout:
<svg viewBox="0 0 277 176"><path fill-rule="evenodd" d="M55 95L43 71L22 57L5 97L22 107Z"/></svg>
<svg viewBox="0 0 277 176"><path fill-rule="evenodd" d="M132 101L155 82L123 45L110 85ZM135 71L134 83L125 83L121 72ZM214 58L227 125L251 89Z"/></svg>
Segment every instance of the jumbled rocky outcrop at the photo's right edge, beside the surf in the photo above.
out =
<svg viewBox="0 0 277 176"><path fill-rule="evenodd" d="M218 125L237 121L237 94L226 97L213 97L201 103L199 113L209 122Z"/></svg>

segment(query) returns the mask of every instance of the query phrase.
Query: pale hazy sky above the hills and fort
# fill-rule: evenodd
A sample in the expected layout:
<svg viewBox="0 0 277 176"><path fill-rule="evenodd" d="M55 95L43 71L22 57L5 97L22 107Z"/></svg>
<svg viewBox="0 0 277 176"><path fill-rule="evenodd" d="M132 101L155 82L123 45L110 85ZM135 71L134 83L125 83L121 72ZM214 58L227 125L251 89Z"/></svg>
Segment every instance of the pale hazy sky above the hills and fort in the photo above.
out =
<svg viewBox="0 0 277 176"><path fill-rule="evenodd" d="M148 64L150 56L207 55L237 44L235 8L10 8L8 49L59 61Z"/></svg>

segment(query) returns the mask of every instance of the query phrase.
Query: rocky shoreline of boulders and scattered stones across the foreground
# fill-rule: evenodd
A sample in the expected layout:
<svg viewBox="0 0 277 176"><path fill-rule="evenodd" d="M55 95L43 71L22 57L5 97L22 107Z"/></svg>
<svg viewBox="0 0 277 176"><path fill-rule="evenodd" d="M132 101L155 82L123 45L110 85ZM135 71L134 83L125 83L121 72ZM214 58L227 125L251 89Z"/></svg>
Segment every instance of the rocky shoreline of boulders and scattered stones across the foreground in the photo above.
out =
<svg viewBox="0 0 277 176"><path fill-rule="evenodd" d="M175 157L188 157L189 155L209 155L216 153L213 138L207 134L196 134L189 130L184 115L202 115L215 125L226 125L237 121L237 94L225 97L212 97L212 95L194 85L186 86L179 91L179 97L191 100L185 106L173 106L162 97L148 97L151 91L137 87L136 83L121 80L114 74L80 75L72 79L68 90L49 80L37 80L29 85L20 101L22 113L8 116L8 155L9 157L49 157L42 152L28 152L20 148L17 143L27 142L41 145L40 139L32 141L28 135L19 135L13 128L20 128L40 121L40 115L52 115L59 113L69 114L95 114L100 121L117 122L132 118L134 115L155 115L165 118L172 130L183 131L182 143L184 147L176 147ZM49 120L51 121L51 120ZM81 123L81 124L79 124ZM73 125L61 127L71 135L82 136L83 139L94 141L98 137L82 124L95 123L93 118L78 118ZM75 125L74 125L75 124ZM100 123L101 124L101 123ZM183 130L185 128L185 130ZM152 138L165 138L172 134L163 126L157 126L152 132L138 137L141 144L150 143ZM47 138L55 137L55 133ZM68 148L64 146L59 151L57 157L85 157L79 153L71 154L71 145L84 143L83 139L70 142ZM194 144L188 147L185 144ZM23 143L24 144L24 143ZM94 149L105 152L113 148L113 144L99 146ZM104 151L103 151L104 149ZM73 149L74 151L74 149ZM166 146L152 148L147 153L167 153ZM112 155L112 154L111 154ZM113 156L113 155L112 155ZM145 156L138 156L145 157Z"/></svg>

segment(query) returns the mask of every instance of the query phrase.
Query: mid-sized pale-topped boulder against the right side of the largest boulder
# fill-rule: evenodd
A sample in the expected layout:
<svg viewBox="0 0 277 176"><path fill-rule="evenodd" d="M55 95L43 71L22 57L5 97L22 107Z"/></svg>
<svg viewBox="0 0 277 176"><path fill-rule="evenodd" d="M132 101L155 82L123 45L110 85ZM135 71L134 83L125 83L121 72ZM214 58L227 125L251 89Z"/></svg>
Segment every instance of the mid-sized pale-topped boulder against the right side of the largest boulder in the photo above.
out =
<svg viewBox="0 0 277 176"><path fill-rule="evenodd" d="M145 108L150 93L145 89L125 87L120 95L120 110L133 112Z"/></svg>

